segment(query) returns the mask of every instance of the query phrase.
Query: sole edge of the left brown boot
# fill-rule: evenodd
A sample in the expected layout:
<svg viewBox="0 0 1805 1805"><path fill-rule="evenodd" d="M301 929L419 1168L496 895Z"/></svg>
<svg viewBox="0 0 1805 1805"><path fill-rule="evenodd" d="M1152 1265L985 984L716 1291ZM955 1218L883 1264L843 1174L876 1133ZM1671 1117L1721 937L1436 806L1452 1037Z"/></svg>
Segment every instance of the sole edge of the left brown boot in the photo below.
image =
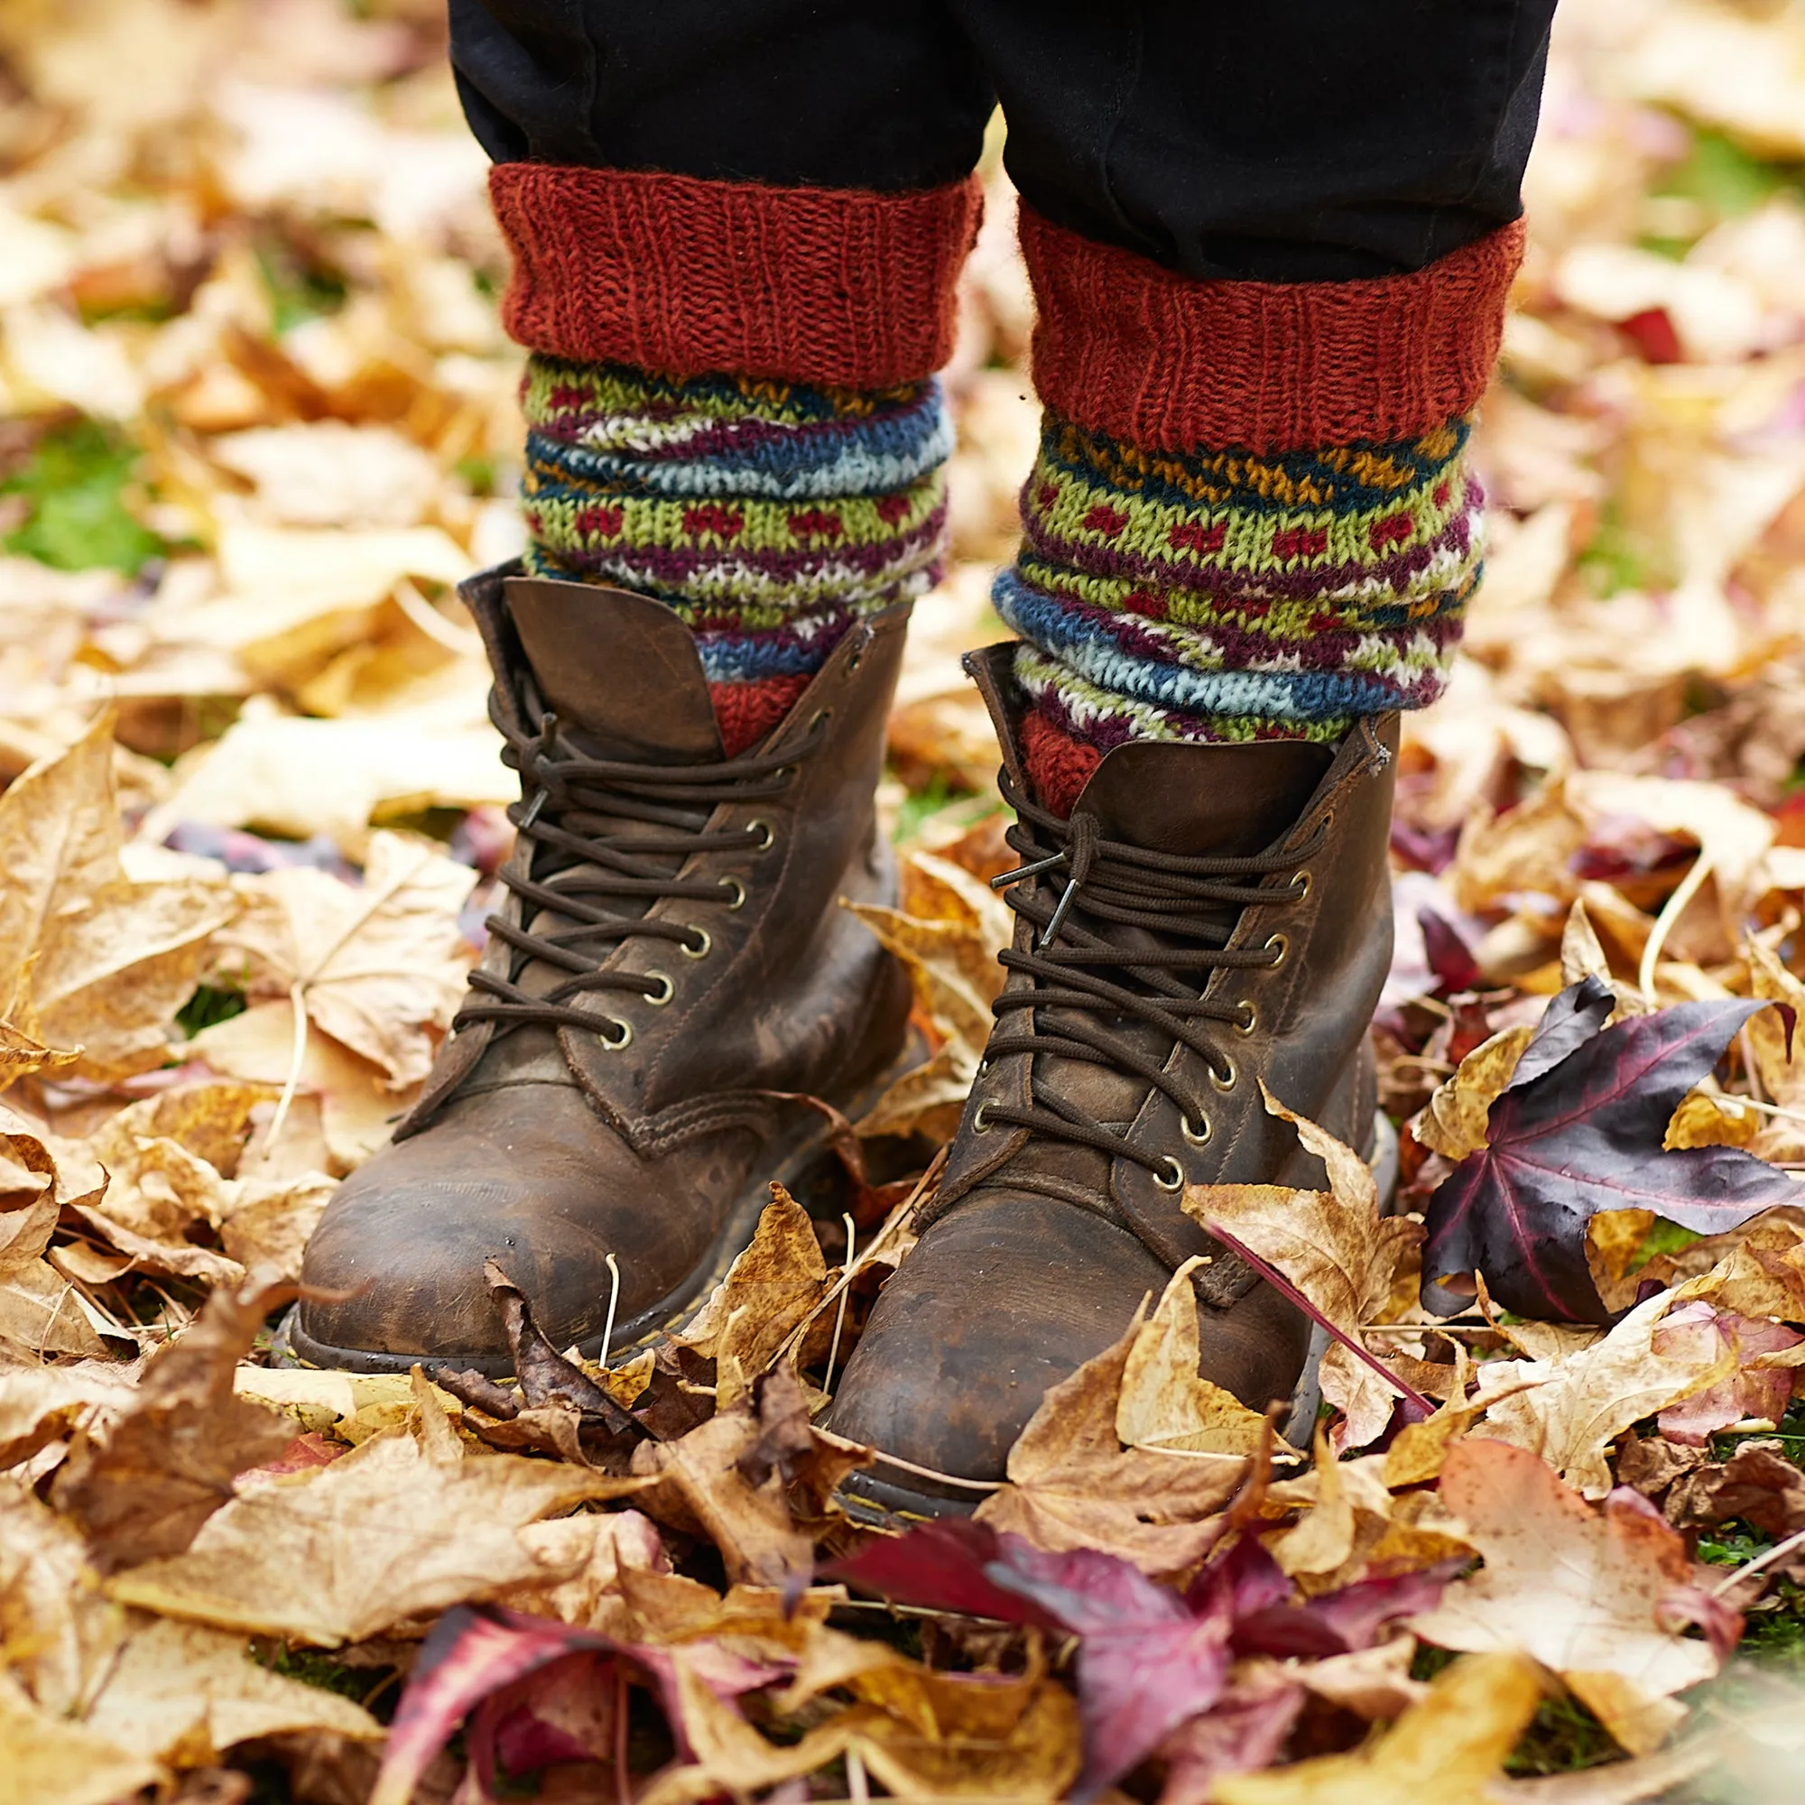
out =
<svg viewBox="0 0 1805 1805"><path fill-rule="evenodd" d="M843 1114L857 1121L897 1078L913 1070L926 1058L926 1047L912 1029L910 1038L897 1058L874 1078L845 1106ZM782 1184L792 1195L807 1195L810 1179L832 1168L832 1125L810 1110L810 1121L778 1148L774 1168L762 1168L764 1177L747 1186L727 1211L720 1231L715 1235L702 1264L684 1280L680 1287L666 1292L650 1309L637 1316L625 1318L614 1325L612 1354L625 1359L655 1341L661 1334L677 1334L700 1310L715 1287L727 1276L727 1269L753 1240L758 1218L771 1202L773 1182ZM300 1305L292 1305L282 1318L269 1345L269 1363L273 1366L318 1366L332 1372L372 1372L406 1374L415 1366L460 1366L475 1368L489 1379L513 1377L513 1363L507 1359L471 1359L462 1354L381 1354L370 1348L341 1348L329 1341L316 1341L300 1321ZM576 1343L578 1354L587 1361L606 1365L603 1336L588 1336Z"/></svg>

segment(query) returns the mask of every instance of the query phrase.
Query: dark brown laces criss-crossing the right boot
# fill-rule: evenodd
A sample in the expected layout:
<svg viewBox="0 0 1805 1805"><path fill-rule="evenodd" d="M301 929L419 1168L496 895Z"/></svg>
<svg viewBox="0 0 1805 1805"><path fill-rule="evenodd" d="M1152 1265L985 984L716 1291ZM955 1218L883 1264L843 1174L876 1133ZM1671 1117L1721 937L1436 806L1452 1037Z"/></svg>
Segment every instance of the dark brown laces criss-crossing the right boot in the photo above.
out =
<svg viewBox="0 0 1805 1805"><path fill-rule="evenodd" d="M1101 839L1096 816L1078 814L1070 821L1051 814L1018 794L1007 773L1004 800L1016 810L1009 845L1023 863L991 886L1005 892L1005 901L1040 930L1031 951L1005 949L1005 969L1025 973L1031 984L1004 991L991 1004L998 1027L984 1049L984 1063L1009 1054L1056 1054L1085 1060L1114 1070L1134 1072L1150 1088L1164 1092L1179 1108L1184 1137L1193 1146L1209 1139L1209 1117L1200 1097L1188 1092L1162 1065L1139 1047L1108 1032L1094 1016L1132 1016L1157 1027L1171 1041L1182 1041L1208 1067L1217 1090L1236 1079L1235 1060L1220 1047L1220 1031L1251 1034L1258 1027L1253 1004L1226 1004L1202 995L1211 973L1235 969L1274 969L1285 962L1289 942L1274 933L1260 946L1227 946L1238 913L1251 906L1301 902L1310 890L1309 861L1328 834L1327 818L1309 841L1251 857L1150 852L1121 841ZM1029 883L1065 872L1058 901ZM1291 872L1285 886L1265 886L1264 877ZM1072 921L1074 912L1097 922L1144 928L1166 942L1157 948L1125 948ZM1114 977L1110 975L1114 973ZM1195 975L1191 984L1179 973ZM1132 986L1123 980L1132 980ZM1032 1011L1063 1009L1067 1018L1041 1023ZM1025 1027L1009 1029L1007 1016L1031 1011ZM1032 1065L1029 1067L1032 1074ZM1038 1079L1029 1081L1031 1103L984 1103L973 1117L973 1130L987 1134L1005 1125L1029 1134L1096 1148L1112 1159L1132 1159L1153 1173L1161 1189L1177 1191L1184 1168L1170 1153L1135 1146L1125 1135L1092 1119L1069 1099Z"/></svg>

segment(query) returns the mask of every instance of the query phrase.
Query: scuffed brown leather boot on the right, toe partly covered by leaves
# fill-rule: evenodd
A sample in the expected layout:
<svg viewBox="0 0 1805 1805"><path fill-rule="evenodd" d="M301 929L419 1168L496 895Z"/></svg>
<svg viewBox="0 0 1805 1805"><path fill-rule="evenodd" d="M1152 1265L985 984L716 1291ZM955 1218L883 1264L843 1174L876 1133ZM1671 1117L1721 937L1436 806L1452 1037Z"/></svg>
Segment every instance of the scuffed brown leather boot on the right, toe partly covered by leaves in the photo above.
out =
<svg viewBox="0 0 1805 1805"><path fill-rule="evenodd" d="M1047 1388L1191 1254L1211 1254L1197 1276L1204 1375L1254 1410L1292 1393L1309 1321L1180 1193L1325 1182L1262 1106L1262 1078L1370 1148L1366 1027L1392 958L1395 715L1339 749L1117 745L1061 821L1029 800L1013 650L967 661L1020 814L1009 978L921 1240L830 1417L839 1435L973 1480L1004 1476ZM848 1491L899 1513L975 1502L881 1460Z"/></svg>

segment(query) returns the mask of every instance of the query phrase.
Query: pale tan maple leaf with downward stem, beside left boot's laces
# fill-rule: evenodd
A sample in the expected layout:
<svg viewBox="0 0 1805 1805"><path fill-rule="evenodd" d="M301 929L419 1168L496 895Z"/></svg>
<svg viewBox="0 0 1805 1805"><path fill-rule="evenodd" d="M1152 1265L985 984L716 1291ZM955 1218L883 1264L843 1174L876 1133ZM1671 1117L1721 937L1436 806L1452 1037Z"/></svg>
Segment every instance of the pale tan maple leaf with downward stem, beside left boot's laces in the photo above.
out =
<svg viewBox="0 0 1805 1805"><path fill-rule="evenodd" d="M475 881L430 841L372 834L361 888L310 866L240 879L245 910L218 944L247 960L247 995L287 996L392 1087L417 1085L464 996L457 915Z"/></svg>

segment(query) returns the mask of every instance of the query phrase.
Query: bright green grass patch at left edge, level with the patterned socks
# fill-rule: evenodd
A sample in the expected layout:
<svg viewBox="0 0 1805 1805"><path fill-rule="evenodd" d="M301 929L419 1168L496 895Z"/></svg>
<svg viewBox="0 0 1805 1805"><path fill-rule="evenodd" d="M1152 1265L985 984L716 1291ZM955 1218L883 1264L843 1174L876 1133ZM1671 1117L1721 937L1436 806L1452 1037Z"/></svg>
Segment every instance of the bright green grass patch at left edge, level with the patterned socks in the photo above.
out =
<svg viewBox="0 0 1805 1805"><path fill-rule="evenodd" d="M56 570L137 572L162 540L126 507L137 448L97 421L54 426L4 480L0 495L22 496L25 520L5 549Z"/></svg>

